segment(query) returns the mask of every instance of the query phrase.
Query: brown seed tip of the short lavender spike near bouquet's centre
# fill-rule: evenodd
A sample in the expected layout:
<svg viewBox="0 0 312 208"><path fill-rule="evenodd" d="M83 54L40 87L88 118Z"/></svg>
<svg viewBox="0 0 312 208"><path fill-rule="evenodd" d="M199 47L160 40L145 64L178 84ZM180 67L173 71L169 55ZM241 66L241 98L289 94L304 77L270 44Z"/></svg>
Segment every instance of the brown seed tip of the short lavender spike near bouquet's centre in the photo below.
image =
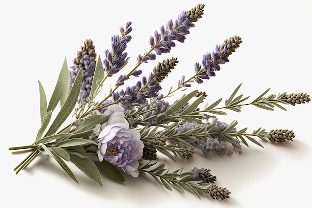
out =
<svg viewBox="0 0 312 208"><path fill-rule="evenodd" d="M161 82L166 76L174 69L178 63L177 58L171 58L163 60L162 63L158 62L158 65L153 69L154 80L156 82Z"/></svg>

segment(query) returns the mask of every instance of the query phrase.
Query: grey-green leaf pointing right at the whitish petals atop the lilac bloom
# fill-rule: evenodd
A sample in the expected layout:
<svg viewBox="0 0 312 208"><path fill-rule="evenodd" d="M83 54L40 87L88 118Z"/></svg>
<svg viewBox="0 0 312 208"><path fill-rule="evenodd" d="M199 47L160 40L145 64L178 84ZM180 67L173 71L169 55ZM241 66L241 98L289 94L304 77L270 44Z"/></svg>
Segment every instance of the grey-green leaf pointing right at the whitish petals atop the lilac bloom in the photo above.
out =
<svg viewBox="0 0 312 208"><path fill-rule="evenodd" d="M97 124L108 121L110 115L88 115L83 122L75 129L74 133L80 133L93 129Z"/></svg>

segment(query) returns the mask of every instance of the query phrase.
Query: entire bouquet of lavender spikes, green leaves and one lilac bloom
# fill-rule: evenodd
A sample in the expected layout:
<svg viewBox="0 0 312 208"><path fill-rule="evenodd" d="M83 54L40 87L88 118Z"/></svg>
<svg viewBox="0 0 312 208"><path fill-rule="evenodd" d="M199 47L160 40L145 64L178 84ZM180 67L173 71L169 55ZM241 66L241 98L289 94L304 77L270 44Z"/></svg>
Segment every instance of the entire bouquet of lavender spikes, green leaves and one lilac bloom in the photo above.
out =
<svg viewBox="0 0 312 208"><path fill-rule="evenodd" d="M229 198L231 192L216 185L216 176L209 167L168 170L163 158L191 162L194 154L241 154L242 146L248 147L249 142L260 147L267 141L289 142L295 137L292 130L258 128L247 132L247 128L236 129L238 121L228 124L218 116L226 115L227 110L240 112L246 105L286 110L283 105L297 106L310 98L307 93L268 95L267 89L248 101L249 96L238 94L241 84L225 102L222 98L208 100L209 93L203 91L189 91L192 83L203 84L229 62L229 56L242 43L239 36L229 37L214 51L203 54L201 62L194 64L194 75L182 75L176 87L162 89L161 82L172 70L178 70L177 57L158 62L148 76L143 76L141 64L151 63L156 56L170 53L177 42L183 43L203 14L204 4L199 4L161 26L148 40L150 48L138 54L136 64L127 72L122 69L129 66L126 48L131 41L131 22L120 27L120 34L112 36L111 48L104 51L103 60L96 54L93 41L87 39L70 69L65 58L49 102L39 81L41 127L35 141L9 148L30 152L14 169L16 174L43 154L53 157L77 183L69 162L101 186L101 174L118 182L125 181L124 174L144 175L153 177L168 190L188 190L199 198ZM106 84L113 76L114 86ZM138 81L125 87L129 79ZM181 91L187 93L175 102L167 101ZM60 109L55 112L59 103ZM66 125L68 120L71 121Z"/></svg>

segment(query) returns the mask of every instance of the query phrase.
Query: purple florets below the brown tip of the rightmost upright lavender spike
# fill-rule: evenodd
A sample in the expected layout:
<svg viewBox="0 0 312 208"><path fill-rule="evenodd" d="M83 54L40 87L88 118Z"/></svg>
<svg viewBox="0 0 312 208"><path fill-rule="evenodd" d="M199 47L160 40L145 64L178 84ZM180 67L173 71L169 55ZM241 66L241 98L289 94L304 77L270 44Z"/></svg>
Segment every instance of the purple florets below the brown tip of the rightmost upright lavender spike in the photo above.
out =
<svg viewBox="0 0 312 208"><path fill-rule="evenodd" d="M222 49L223 48L223 49ZM215 71L220 70L220 64L225 64L229 62L228 56L222 56L221 54L226 54L227 48L221 47L221 45L216 45L215 51L212 53L208 52L203 55L202 65L195 63L195 72L196 76L194 80L201 84L203 79L209 79L212 76L215 76Z"/></svg>

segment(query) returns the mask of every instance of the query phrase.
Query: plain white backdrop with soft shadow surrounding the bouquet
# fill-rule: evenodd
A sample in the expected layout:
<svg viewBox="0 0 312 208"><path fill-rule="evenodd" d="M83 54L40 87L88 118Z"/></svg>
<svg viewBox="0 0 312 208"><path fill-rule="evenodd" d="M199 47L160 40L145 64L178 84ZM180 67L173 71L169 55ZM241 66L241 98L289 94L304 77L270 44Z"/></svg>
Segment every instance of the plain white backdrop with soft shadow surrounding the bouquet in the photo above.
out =
<svg viewBox="0 0 312 208"><path fill-rule="evenodd" d="M163 93L176 86L182 76L190 77L194 63L231 36L243 43L221 65L216 77L203 84L193 84L206 91L212 103L227 98L242 83L239 93L258 97L271 93L312 94L311 86L311 3L307 0L192 0L192 1L8 1L2 2L2 145L1 204L16 207L231 207L231 208L308 208L311 201L311 116L312 104L285 106L288 111L266 111L244 107L241 113L228 112L219 119L238 120L238 129L259 127L292 129L296 138L285 144L264 143L260 148L251 142L243 154L203 157L169 164L169 170L194 166L211 169L217 185L232 194L227 200L198 199L191 192L172 192L158 185L152 177L131 178L115 183L103 176L98 186L73 166L76 184L51 158L38 157L27 169L15 175L13 168L26 153L12 153L11 146L29 145L40 127L38 82L51 96L66 56L68 65L80 46L91 38L98 55L110 49L110 37L119 34L126 21L133 22L132 40L127 46L131 59L123 70L135 65L139 53L149 49L149 36L169 19L199 3L205 4L202 19L195 22L185 43L177 43L169 54L141 65L148 74L166 58L178 57L179 63L163 82ZM3 64L4 63L4 64ZM112 80L116 81L118 76ZM135 80L129 80L131 85ZM173 100L183 93L179 92ZM4 115L4 116L3 116ZM3 145L4 143L4 145ZM1 207L3 207L1 206Z"/></svg>

